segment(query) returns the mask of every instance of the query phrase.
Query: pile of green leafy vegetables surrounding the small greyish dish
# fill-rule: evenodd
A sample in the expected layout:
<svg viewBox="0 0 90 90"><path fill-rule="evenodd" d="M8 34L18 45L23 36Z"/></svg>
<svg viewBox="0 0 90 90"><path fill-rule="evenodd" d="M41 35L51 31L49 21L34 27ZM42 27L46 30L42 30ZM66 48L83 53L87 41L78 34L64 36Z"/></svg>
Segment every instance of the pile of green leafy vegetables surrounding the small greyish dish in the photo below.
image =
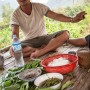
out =
<svg viewBox="0 0 90 90"><path fill-rule="evenodd" d="M9 69L7 74L2 77L0 90L34 90L35 86L29 85L28 82L20 80L18 74L26 69L40 67L40 61L35 60L20 68Z"/></svg>

